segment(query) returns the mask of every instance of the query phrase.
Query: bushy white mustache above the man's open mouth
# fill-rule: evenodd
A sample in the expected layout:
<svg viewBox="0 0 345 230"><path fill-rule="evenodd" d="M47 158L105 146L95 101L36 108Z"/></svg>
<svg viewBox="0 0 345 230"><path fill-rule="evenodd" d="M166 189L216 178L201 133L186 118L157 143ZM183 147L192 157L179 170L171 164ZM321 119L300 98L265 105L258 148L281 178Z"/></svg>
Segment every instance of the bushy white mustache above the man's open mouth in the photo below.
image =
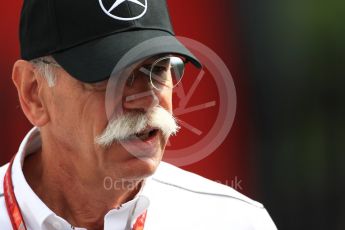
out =
<svg viewBox="0 0 345 230"><path fill-rule="evenodd" d="M109 121L103 133L95 142L102 147L109 147L114 142L126 141L147 127L159 129L167 140L176 135L180 127L174 116L160 106L153 107L146 113L128 112Z"/></svg>

